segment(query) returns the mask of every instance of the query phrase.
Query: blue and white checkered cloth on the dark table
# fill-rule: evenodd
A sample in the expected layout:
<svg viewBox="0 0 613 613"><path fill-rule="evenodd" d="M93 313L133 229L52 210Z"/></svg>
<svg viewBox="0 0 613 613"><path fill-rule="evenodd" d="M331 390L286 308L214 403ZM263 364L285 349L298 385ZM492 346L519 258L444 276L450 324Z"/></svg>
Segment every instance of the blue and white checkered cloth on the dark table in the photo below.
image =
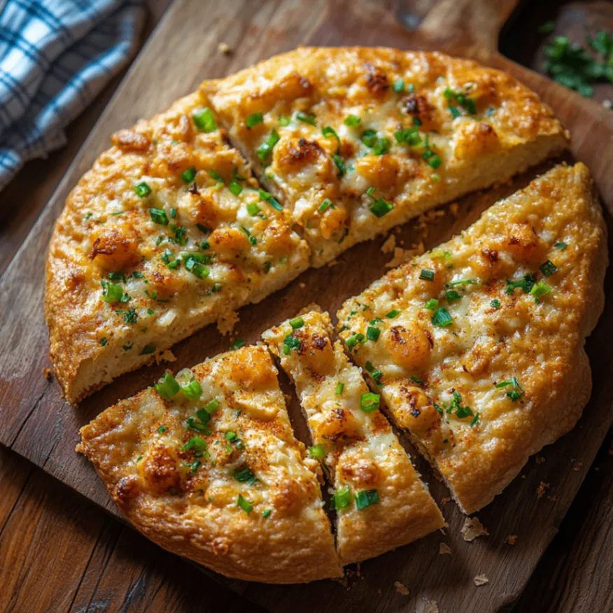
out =
<svg viewBox="0 0 613 613"><path fill-rule="evenodd" d="M127 62L141 0L0 0L0 190Z"/></svg>

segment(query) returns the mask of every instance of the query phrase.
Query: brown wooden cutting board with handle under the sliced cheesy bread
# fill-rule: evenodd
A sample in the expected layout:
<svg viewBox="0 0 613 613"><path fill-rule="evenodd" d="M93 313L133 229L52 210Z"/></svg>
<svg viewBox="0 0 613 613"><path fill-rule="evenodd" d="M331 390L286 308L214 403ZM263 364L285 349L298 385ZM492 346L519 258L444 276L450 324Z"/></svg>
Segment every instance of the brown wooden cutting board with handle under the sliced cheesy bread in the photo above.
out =
<svg viewBox="0 0 613 613"><path fill-rule="evenodd" d="M122 376L80 407L66 404L57 383L43 376L43 369L50 366L42 311L46 248L66 195L108 146L109 136L140 117L160 111L194 90L204 78L225 76L301 44L438 48L476 57L513 73L554 107L572 133L572 155L585 162L596 177L610 223L613 172L607 171L607 164L613 159L613 113L498 55L495 50L498 31L516 2L414 2L411 6L421 7L423 12L433 6L421 29L414 32L397 22L400 18L409 23L414 17L407 13L405 4L409 3L374 0L330 4L325 0L174 3L0 279L0 442L101 507L117 513L92 466L73 451L78 428L116 400L150 385L167 365ZM232 55L218 52L220 42L230 45ZM547 167L545 164L536 171ZM487 194L462 199L457 216L443 208L445 214L433 223L407 224L397 234L397 241L404 241L409 248L421 242L425 248L438 244L469 225L495 199L525 185L536 171ZM355 246L334 267L307 271L260 305L241 309L237 334L248 342L256 341L266 327L293 315L312 300L334 313L346 297L358 293L387 270L385 264L390 255L381 253L382 242L379 239ZM460 535L464 517L452 503L446 503L442 509L449 528L444 533L367 561L359 571L353 568L346 584L326 581L307 586L267 586L229 582L219 577L220 581L274 613L412 613L428 611L428 601L435 601L441 612L493 613L511 603L556 533L611 422L611 275L607 276L605 290L605 314L587 344L594 379L591 402L575 430L540 453L541 459L530 460L521 477L478 514L488 529L488 537L464 542ZM214 327L206 328L176 347L178 359L172 367L194 365L227 350L229 345L228 337L220 337ZM290 412L299 435L304 436L304 425L296 409L294 400ZM444 486L416 453L412 455L430 482L433 495L442 502L448 495ZM505 543L509 535L518 535L514 546ZM440 543L451 547L451 555L439 554ZM476 575L486 575L489 583L475 586ZM409 595L399 593L395 582L406 586Z"/></svg>

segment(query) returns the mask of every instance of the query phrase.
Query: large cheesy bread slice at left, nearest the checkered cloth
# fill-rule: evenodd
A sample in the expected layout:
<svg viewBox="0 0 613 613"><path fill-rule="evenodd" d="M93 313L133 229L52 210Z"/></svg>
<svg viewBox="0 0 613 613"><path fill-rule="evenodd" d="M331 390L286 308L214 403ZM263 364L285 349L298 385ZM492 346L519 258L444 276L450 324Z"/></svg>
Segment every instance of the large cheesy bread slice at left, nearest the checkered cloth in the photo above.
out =
<svg viewBox="0 0 613 613"><path fill-rule="evenodd" d="M309 263L206 104L192 94L115 134L57 221L45 317L69 402Z"/></svg>

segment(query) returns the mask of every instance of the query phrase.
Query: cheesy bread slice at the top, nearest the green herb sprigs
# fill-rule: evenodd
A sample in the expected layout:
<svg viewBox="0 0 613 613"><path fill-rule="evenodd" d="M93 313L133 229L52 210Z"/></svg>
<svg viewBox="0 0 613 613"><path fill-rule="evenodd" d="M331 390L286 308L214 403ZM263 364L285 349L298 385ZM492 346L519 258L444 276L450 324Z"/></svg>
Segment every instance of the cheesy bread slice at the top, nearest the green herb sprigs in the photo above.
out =
<svg viewBox="0 0 613 613"><path fill-rule="evenodd" d="M437 52L300 48L202 90L316 266L568 144L512 76Z"/></svg>

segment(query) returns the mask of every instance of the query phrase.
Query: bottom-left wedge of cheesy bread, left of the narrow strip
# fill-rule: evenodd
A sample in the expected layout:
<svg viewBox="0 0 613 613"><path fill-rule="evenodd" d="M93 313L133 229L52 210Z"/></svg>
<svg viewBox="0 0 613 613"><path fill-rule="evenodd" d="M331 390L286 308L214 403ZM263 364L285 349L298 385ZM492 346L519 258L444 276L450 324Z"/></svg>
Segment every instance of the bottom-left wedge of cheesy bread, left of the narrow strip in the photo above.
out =
<svg viewBox="0 0 613 613"><path fill-rule="evenodd" d="M77 451L164 549L250 581L339 577L320 469L276 373L262 346L168 373L82 428Z"/></svg>

